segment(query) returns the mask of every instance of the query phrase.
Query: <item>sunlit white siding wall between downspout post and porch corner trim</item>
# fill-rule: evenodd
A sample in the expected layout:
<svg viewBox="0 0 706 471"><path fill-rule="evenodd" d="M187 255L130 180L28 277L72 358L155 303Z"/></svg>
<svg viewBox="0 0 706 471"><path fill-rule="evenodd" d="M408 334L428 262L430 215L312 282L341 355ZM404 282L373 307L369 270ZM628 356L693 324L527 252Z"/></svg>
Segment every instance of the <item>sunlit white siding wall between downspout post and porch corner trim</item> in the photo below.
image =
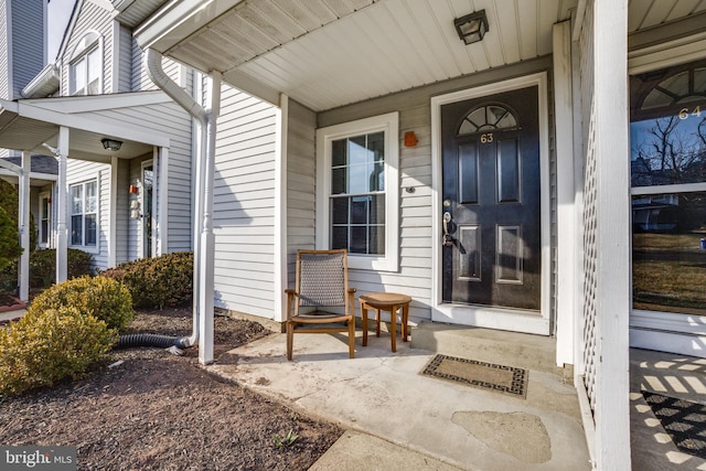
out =
<svg viewBox="0 0 706 471"><path fill-rule="evenodd" d="M224 85L214 188L215 306L272 318L277 109Z"/></svg>

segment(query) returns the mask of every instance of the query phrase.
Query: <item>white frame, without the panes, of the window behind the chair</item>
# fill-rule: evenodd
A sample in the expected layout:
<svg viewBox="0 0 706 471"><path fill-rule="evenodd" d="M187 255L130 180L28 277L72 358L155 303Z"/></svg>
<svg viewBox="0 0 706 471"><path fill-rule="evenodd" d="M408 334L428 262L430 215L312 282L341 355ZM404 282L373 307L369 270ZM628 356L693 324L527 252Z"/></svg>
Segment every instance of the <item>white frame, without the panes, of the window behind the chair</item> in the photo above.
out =
<svg viewBox="0 0 706 471"><path fill-rule="evenodd" d="M385 254L349 254L349 266L399 270L399 113L317 129L317 248L330 247L331 149L334 140L385 132Z"/></svg>

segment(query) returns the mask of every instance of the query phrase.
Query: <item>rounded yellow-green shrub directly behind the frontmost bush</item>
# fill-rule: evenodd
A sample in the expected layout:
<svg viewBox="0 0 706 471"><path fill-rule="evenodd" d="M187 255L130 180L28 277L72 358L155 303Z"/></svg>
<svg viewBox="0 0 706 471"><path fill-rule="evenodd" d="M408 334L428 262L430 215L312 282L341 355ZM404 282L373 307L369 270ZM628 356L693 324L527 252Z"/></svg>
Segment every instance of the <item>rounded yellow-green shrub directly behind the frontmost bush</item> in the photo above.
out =
<svg viewBox="0 0 706 471"><path fill-rule="evenodd" d="M88 276L74 278L44 290L28 308L28 314L41 315L50 309L74 307L86 317L104 321L109 329L122 331L135 318L130 292L115 280Z"/></svg>

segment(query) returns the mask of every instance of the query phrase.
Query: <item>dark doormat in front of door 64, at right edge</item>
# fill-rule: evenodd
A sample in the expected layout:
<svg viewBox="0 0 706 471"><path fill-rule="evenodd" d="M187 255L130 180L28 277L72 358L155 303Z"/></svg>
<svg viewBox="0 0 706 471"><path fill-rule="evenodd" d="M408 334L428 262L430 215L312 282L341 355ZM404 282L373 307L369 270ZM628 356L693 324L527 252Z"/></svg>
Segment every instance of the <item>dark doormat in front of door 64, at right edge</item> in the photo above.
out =
<svg viewBox="0 0 706 471"><path fill-rule="evenodd" d="M680 451L706 459L706 405L642 392Z"/></svg>

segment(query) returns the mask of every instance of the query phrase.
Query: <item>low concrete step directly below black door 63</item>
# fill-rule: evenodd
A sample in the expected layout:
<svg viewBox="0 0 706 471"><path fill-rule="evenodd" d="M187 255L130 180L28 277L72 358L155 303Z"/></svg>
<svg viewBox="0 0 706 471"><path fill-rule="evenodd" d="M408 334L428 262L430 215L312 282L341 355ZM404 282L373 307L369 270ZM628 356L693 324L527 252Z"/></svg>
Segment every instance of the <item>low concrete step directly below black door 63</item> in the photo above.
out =
<svg viewBox="0 0 706 471"><path fill-rule="evenodd" d="M561 376L553 338L421 322L411 329L411 347L445 355L534 370Z"/></svg>

